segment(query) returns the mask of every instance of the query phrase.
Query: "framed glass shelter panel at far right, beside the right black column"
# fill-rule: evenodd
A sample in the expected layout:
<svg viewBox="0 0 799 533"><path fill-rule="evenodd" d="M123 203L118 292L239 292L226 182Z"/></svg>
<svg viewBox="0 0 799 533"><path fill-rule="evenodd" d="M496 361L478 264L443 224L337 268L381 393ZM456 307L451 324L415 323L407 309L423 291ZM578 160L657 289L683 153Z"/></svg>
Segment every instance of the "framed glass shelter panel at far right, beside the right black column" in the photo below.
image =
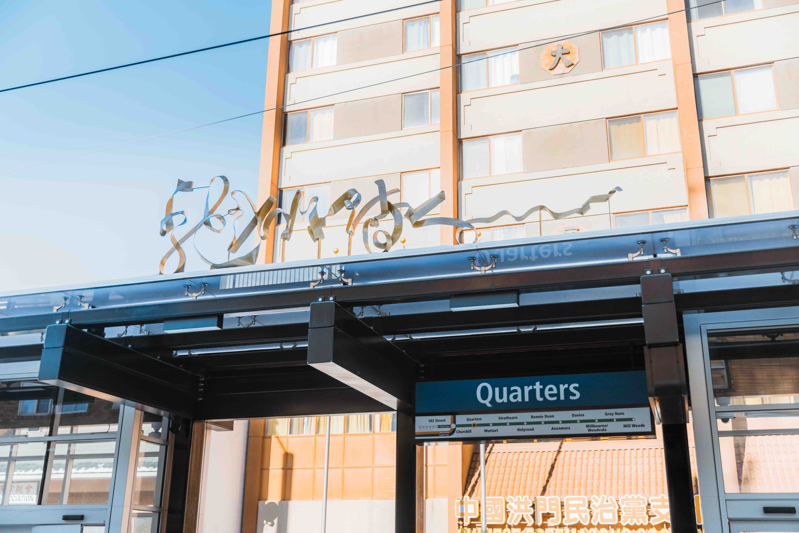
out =
<svg viewBox="0 0 799 533"><path fill-rule="evenodd" d="M799 492L799 328L709 332L726 494Z"/></svg>

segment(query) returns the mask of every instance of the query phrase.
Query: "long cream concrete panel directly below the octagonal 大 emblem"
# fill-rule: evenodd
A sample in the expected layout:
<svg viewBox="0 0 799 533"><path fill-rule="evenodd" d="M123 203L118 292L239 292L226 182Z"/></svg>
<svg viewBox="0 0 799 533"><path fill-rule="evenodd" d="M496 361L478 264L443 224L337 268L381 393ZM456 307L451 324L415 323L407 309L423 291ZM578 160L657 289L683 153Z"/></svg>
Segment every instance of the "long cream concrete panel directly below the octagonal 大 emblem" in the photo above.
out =
<svg viewBox="0 0 799 533"><path fill-rule="evenodd" d="M671 61L460 95L460 137L674 109Z"/></svg>

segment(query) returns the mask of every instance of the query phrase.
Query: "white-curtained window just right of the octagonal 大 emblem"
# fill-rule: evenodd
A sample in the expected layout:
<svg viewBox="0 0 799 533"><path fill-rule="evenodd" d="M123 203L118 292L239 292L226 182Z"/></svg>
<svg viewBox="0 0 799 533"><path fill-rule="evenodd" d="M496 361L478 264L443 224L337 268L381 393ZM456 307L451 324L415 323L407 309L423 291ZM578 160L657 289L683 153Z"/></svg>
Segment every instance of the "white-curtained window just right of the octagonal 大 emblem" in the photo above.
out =
<svg viewBox="0 0 799 533"><path fill-rule="evenodd" d="M670 57L669 23L665 20L602 32L602 68L614 69Z"/></svg>

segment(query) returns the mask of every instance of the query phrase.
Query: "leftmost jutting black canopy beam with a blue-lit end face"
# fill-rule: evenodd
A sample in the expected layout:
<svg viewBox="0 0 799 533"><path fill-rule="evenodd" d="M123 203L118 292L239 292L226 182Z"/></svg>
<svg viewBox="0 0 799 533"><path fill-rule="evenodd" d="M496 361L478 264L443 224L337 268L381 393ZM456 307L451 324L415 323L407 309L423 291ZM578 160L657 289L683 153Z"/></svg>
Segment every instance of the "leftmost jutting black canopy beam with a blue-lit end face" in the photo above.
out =
<svg viewBox="0 0 799 533"><path fill-rule="evenodd" d="M190 416L197 376L69 324L47 328L39 381L137 408Z"/></svg>

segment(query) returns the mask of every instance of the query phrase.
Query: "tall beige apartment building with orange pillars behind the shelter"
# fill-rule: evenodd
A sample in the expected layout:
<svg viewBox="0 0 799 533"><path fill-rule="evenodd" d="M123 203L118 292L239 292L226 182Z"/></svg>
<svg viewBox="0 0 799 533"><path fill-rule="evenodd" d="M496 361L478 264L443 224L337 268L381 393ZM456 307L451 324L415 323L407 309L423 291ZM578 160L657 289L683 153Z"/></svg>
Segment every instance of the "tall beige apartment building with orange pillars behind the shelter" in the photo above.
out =
<svg viewBox="0 0 799 533"><path fill-rule="evenodd" d="M799 2L420 3L273 2L273 32L310 29L269 48L265 107L285 107L264 117L260 200L300 195L266 261L379 252L379 201L352 235L348 209L306 231L378 180L413 208L443 191L426 218L483 219L456 236L406 217L395 249L794 209Z"/></svg>

